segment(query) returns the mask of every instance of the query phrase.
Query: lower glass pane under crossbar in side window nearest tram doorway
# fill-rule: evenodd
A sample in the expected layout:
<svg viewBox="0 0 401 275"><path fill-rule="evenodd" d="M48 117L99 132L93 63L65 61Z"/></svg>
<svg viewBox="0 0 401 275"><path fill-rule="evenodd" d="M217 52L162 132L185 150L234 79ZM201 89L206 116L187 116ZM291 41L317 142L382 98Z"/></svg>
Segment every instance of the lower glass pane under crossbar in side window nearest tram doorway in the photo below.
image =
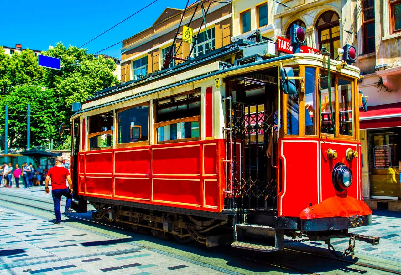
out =
<svg viewBox="0 0 401 275"><path fill-rule="evenodd" d="M182 140L199 137L199 122L177 122L159 127L157 129L157 141Z"/></svg>

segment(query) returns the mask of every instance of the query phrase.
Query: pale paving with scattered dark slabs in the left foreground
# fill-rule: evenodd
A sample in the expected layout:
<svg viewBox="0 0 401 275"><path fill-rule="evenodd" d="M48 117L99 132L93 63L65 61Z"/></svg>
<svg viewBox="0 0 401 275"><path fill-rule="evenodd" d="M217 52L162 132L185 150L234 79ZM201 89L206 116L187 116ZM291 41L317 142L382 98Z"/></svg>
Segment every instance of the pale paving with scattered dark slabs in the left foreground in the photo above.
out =
<svg viewBox="0 0 401 275"><path fill-rule="evenodd" d="M55 225L0 208L0 274L223 274L133 243L132 237L117 239L70 226L68 219Z"/></svg>

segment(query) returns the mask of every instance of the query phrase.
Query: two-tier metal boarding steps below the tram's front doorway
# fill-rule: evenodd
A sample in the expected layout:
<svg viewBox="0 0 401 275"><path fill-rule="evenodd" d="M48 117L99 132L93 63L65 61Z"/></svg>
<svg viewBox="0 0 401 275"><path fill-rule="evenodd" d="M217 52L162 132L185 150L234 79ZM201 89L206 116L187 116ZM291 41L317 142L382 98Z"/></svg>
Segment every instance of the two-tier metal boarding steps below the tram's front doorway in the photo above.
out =
<svg viewBox="0 0 401 275"><path fill-rule="evenodd" d="M255 251L277 251L283 248L282 229L261 224L235 224L232 247Z"/></svg>

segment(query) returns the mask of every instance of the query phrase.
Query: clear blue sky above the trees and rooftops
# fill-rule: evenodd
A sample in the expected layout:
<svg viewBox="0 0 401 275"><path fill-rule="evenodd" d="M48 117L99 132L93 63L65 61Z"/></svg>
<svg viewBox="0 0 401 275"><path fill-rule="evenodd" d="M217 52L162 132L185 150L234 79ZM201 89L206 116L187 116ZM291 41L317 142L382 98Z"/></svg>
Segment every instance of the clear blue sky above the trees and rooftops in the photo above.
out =
<svg viewBox="0 0 401 275"><path fill-rule="evenodd" d="M22 0L15 5L8 2L8 7L4 7L2 12L0 46L14 47L15 44L22 44L23 48L46 51L49 45L61 41L67 47L70 44L79 47L151 2L153 0ZM192 2L194 0L190 4ZM152 26L167 6L183 9L185 4L186 0L158 0L84 48L89 53L96 53ZM121 48L122 43L102 53L121 58Z"/></svg>

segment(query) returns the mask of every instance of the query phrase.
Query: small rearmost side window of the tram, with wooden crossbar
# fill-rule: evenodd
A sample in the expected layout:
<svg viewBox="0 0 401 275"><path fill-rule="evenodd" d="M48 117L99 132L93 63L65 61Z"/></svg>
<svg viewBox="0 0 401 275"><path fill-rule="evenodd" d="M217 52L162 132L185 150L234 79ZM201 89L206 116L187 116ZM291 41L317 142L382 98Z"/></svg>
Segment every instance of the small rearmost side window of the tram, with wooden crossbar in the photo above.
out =
<svg viewBox="0 0 401 275"><path fill-rule="evenodd" d="M88 117L89 150L113 147L113 111Z"/></svg>

